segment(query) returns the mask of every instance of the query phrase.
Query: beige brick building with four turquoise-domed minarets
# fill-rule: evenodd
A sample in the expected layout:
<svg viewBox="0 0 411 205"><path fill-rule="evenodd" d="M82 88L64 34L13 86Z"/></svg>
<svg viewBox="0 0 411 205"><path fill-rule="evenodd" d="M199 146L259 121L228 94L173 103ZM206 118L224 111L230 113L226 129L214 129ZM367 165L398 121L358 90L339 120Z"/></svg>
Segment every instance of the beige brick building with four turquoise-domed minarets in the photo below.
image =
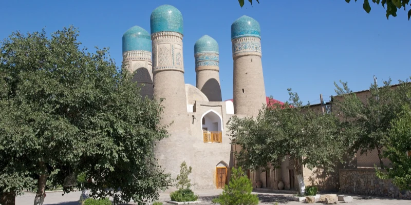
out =
<svg viewBox="0 0 411 205"><path fill-rule="evenodd" d="M226 128L234 115L256 116L267 104L261 65L261 35L258 22L241 16L231 25L233 99L221 99L219 54L216 40L202 36L194 45L196 85L184 83L183 17L170 5L157 7L150 17L150 31L134 26L123 35L123 65L136 72L134 80L145 86L142 96L165 98L161 124L169 137L157 143L159 165L175 178L180 164L193 167L195 189L219 189L229 181L235 164ZM192 49L193 47L191 47ZM281 169L248 172L254 188L285 189L295 186L291 161ZM291 183L290 183L291 181ZM281 185L280 185L281 189Z"/></svg>

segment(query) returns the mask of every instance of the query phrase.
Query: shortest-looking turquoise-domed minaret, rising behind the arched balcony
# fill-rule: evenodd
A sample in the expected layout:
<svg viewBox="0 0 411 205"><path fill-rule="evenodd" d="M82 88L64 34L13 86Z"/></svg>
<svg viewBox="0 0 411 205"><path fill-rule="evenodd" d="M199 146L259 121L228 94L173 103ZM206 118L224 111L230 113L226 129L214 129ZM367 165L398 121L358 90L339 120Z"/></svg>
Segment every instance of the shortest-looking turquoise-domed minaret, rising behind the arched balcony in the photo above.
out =
<svg viewBox="0 0 411 205"><path fill-rule="evenodd" d="M214 38L204 35L194 44L196 87L210 101L221 101L218 44Z"/></svg>

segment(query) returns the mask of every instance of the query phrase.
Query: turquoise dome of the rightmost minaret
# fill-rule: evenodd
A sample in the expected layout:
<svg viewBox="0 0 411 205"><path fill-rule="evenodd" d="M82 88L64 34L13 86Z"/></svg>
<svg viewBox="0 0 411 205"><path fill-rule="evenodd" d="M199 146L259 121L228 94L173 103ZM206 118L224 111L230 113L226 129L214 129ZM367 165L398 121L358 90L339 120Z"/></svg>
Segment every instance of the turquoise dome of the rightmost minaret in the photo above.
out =
<svg viewBox="0 0 411 205"><path fill-rule="evenodd" d="M241 16L231 25L231 39L244 36L261 37L260 24L249 16Z"/></svg>

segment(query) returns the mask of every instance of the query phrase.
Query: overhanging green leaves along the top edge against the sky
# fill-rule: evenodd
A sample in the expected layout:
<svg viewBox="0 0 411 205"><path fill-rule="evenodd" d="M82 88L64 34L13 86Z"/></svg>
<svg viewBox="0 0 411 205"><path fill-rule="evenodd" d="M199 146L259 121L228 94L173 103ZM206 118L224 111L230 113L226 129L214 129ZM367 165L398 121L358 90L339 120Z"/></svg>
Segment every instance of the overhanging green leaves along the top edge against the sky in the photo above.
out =
<svg viewBox="0 0 411 205"><path fill-rule="evenodd" d="M253 0L248 0L251 4L251 6L253 6ZM355 0L357 2L357 0ZM256 2L259 4L260 2L258 0L256 0ZM347 2L348 4L351 2L351 0L345 0L345 2ZM240 7L242 8L242 6L244 6L244 0L238 0L238 3L240 4ZM372 3L375 3L377 5L380 4L380 0L372 0ZM382 0L381 1L381 6L385 8L386 5L386 14L385 16L388 17L390 15L396 17L397 16L397 10L401 9L402 7L404 7L404 11L406 10L406 6L407 5L411 5L409 3L409 0ZM369 1L368 0L364 0L363 3L363 9L369 13L371 11L371 6L369 5ZM408 10L408 20L411 17L411 9Z"/></svg>

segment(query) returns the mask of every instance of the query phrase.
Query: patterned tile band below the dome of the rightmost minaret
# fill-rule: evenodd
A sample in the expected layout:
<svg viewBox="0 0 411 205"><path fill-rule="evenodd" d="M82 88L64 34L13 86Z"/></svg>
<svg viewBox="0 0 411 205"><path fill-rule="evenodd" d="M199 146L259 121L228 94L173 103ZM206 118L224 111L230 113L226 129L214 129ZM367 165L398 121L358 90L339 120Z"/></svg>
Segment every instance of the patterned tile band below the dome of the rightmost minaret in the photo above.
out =
<svg viewBox="0 0 411 205"><path fill-rule="evenodd" d="M261 39L258 37L240 37L231 40L233 58L242 55L261 56Z"/></svg>

